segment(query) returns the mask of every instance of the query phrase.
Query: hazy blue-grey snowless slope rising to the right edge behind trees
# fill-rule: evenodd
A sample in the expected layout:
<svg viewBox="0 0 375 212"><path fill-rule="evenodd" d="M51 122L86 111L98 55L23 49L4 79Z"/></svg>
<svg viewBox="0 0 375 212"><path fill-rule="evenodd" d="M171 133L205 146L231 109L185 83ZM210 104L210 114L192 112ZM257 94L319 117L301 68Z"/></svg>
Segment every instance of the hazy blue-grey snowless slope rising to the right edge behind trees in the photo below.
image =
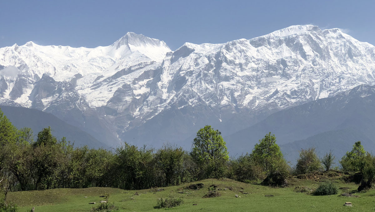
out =
<svg viewBox="0 0 375 212"><path fill-rule="evenodd" d="M375 86L360 85L336 96L282 110L225 138L232 153L251 152L268 132L275 134L287 159L295 162L301 148L330 149L341 157L362 140L375 148Z"/></svg>

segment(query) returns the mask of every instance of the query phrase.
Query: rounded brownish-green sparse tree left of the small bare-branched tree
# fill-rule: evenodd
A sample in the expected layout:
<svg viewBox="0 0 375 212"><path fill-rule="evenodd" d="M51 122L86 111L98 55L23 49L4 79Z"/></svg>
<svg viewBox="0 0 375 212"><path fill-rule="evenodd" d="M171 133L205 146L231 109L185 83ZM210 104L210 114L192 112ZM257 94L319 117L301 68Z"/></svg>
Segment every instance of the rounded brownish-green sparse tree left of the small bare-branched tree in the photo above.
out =
<svg viewBox="0 0 375 212"><path fill-rule="evenodd" d="M306 174L320 169L321 163L318 155L315 153L315 148L301 149L300 157L296 164L296 174Z"/></svg>

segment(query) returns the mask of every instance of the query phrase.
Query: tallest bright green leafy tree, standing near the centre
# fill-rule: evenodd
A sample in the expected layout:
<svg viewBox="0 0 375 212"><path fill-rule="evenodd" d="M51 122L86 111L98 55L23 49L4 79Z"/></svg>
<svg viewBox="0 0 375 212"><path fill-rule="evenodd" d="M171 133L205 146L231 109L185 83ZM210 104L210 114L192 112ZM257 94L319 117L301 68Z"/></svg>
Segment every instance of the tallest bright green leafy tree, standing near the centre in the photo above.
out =
<svg viewBox="0 0 375 212"><path fill-rule="evenodd" d="M202 178L220 178L229 160L226 143L219 130L210 125L201 128L193 140L191 155L201 170Z"/></svg>

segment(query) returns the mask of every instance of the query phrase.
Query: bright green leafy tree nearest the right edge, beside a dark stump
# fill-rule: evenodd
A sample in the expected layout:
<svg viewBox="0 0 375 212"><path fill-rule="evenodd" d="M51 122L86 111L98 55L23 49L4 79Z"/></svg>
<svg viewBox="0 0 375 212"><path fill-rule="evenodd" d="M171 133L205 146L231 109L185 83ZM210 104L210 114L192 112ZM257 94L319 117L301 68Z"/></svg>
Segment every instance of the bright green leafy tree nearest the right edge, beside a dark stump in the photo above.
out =
<svg viewBox="0 0 375 212"><path fill-rule="evenodd" d="M358 172L363 169L363 158L366 156L366 151L361 145L360 141L357 141L353 145L353 149L347 152L344 157L341 158L340 164L342 170L347 172Z"/></svg>

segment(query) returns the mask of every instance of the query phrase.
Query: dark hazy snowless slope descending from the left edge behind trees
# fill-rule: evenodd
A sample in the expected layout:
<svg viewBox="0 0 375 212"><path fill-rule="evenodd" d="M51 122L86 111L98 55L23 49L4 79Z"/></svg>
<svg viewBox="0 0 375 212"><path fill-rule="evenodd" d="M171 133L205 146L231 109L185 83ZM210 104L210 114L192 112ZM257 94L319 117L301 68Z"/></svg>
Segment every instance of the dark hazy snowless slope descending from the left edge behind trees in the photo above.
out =
<svg viewBox="0 0 375 212"><path fill-rule="evenodd" d="M74 142L75 146L109 147L108 144L99 142L90 134L62 121L52 114L24 107L0 106L0 109L15 127L30 127L35 136L43 128L51 127L54 136L59 139L66 137L66 140Z"/></svg>

